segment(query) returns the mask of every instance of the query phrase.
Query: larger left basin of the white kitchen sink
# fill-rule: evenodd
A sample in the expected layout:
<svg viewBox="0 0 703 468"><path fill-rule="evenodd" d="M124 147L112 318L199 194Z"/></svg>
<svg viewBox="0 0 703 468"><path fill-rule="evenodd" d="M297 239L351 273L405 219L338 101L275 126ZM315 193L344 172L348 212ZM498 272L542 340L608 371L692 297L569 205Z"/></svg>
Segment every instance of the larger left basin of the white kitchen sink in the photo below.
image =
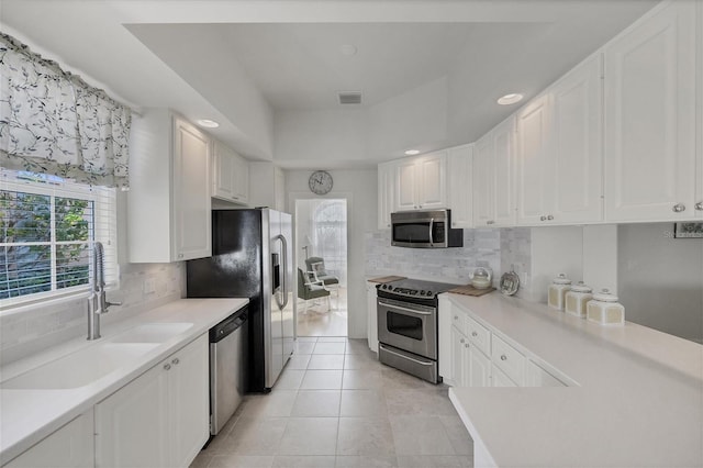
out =
<svg viewBox="0 0 703 468"><path fill-rule="evenodd" d="M101 343L60 357L0 385L2 389L72 389L131 365L158 343Z"/></svg>

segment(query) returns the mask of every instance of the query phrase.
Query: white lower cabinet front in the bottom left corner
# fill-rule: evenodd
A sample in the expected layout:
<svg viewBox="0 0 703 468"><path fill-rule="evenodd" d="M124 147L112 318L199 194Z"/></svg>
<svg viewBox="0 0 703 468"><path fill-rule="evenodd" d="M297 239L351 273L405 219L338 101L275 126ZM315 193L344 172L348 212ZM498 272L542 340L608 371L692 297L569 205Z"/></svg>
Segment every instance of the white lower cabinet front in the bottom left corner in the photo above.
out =
<svg viewBox="0 0 703 468"><path fill-rule="evenodd" d="M87 468L93 466L93 412L87 411L30 447L5 468Z"/></svg>

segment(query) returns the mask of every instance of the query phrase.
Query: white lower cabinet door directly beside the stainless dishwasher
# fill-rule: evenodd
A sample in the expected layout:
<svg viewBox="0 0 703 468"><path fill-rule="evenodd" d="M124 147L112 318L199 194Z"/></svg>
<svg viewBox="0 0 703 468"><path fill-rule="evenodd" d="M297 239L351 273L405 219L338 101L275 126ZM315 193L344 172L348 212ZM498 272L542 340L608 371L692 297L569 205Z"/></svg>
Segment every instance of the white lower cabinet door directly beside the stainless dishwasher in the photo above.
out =
<svg viewBox="0 0 703 468"><path fill-rule="evenodd" d="M210 435L208 335L168 359L170 466L188 466Z"/></svg>

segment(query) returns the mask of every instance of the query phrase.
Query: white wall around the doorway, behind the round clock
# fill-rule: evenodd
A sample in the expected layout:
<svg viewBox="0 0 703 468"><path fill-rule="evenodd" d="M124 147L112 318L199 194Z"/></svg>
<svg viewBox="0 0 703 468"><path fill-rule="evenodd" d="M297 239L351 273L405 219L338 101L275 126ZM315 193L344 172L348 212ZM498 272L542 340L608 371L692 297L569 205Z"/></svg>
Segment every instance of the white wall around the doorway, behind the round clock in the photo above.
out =
<svg viewBox="0 0 703 468"><path fill-rule="evenodd" d="M308 189L312 170L286 171L288 205L294 212L297 199L319 198ZM334 187L323 198L347 200L347 307L348 335L366 337L366 279L364 276L364 233L376 230L377 175L376 169L330 170ZM295 255L303 255L295 252Z"/></svg>

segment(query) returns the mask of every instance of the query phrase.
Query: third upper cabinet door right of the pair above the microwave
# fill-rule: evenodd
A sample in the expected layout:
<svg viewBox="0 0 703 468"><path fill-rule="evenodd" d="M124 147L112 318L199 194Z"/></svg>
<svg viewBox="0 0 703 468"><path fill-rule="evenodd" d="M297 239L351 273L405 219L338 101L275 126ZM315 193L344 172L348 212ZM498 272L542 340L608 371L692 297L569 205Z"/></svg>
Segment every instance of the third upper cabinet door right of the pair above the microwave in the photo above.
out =
<svg viewBox="0 0 703 468"><path fill-rule="evenodd" d="M514 122L509 119L501 123L490 136L493 141L493 213L495 224L502 226L515 225Z"/></svg>

